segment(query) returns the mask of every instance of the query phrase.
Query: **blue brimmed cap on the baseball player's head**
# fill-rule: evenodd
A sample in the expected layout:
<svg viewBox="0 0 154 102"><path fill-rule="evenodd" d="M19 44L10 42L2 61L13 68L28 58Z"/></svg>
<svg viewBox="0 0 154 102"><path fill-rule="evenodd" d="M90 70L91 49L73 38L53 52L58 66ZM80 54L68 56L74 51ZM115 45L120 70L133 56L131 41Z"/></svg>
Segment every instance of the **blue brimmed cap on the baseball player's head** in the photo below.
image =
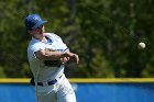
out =
<svg viewBox="0 0 154 102"><path fill-rule="evenodd" d="M24 21L26 30L35 30L46 22L47 21L42 20L38 14L30 14L25 18Z"/></svg>

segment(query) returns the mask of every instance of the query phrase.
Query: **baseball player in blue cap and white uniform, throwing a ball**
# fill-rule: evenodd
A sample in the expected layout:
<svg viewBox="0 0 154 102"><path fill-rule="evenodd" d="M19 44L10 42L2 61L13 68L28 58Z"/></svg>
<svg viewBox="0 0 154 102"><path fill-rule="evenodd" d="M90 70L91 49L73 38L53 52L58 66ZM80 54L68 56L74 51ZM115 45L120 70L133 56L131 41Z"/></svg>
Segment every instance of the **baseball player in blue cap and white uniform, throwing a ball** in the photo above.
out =
<svg viewBox="0 0 154 102"><path fill-rule="evenodd" d="M38 14L30 14L24 21L26 32L32 36L28 46L28 57L37 100L76 102L75 92L64 75L64 67L72 59L78 64L78 55L70 53L59 36L44 32L46 22Z"/></svg>

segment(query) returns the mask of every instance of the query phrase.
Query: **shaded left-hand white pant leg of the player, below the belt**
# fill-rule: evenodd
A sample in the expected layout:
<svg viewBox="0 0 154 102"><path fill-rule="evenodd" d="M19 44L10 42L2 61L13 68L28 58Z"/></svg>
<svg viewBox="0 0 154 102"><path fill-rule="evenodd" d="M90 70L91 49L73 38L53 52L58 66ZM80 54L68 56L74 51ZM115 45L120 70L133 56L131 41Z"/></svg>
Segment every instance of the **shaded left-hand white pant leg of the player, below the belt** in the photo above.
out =
<svg viewBox="0 0 154 102"><path fill-rule="evenodd" d="M57 102L54 86L37 86L36 97L38 102Z"/></svg>

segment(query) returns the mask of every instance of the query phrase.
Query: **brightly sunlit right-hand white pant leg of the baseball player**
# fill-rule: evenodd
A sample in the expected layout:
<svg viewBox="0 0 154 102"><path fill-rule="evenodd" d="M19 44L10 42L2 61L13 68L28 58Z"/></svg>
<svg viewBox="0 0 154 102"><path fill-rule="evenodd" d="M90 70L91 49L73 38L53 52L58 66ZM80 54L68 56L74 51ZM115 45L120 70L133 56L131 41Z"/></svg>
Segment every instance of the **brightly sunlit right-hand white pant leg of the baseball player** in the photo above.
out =
<svg viewBox="0 0 154 102"><path fill-rule="evenodd" d="M74 89L67 78L65 78L58 86L57 102L76 102Z"/></svg>

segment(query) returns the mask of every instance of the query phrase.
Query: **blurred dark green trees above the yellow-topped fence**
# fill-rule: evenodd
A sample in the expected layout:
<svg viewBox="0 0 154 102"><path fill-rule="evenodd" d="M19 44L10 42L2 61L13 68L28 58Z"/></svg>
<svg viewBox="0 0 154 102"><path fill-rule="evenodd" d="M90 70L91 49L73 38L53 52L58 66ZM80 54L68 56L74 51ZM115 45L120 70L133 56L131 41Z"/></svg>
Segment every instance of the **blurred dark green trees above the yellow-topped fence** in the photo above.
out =
<svg viewBox="0 0 154 102"><path fill-rule="evenodd" d="M38 13L46 32L58 34L80 65L68 64L68 77L153 77L152 0L4 0L0 1L0 77L31 77L30 37L24 18ZM138 49L139 42L146 48Z"/></svg>

